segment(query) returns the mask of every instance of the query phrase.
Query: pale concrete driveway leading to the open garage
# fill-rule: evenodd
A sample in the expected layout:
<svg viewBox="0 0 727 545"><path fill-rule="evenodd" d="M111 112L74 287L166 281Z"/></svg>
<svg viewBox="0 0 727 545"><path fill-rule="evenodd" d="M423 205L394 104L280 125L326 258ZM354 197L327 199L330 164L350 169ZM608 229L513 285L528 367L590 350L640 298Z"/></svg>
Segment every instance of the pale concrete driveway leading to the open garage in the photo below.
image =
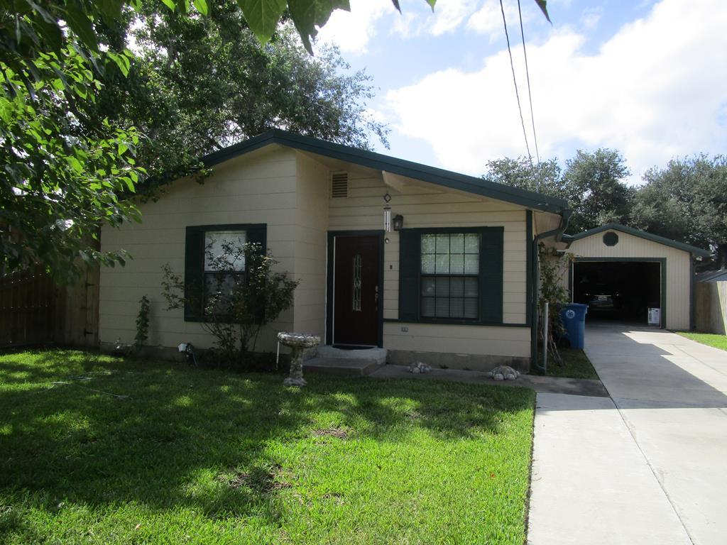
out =
<svg viewBox="0 0 727 545"><path fill-rule="evenodd" d="M611 398L539 394L529 543L727 544L727 352L589 326Z"/></svg>

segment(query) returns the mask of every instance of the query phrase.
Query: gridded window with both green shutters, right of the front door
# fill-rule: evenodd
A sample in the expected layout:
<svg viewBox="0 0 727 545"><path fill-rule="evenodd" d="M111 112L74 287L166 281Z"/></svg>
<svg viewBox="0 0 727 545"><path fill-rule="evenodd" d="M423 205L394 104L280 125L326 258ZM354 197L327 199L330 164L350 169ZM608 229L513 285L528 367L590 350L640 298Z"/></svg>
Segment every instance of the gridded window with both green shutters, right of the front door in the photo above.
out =
<svg viewBox="0 0 727 545"><path fill-rule="evenodd" d="M399 320L502 323L503 227L400 233Z"/></svg>

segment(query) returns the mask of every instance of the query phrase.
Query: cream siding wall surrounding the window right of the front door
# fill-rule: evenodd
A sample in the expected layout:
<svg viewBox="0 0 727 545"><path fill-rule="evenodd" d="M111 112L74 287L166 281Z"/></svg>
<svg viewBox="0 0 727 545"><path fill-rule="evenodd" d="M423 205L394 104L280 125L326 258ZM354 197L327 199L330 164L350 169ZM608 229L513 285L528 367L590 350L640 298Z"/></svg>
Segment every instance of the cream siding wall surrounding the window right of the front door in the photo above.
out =
<svg viewBox="0 0 727 545"><path fill-rule="evenodd" d="M526 210L501 201L446 191L428 184L407 185L399 192L379 173L351 173L348 198L330 198L330 230L382 230L385 193L391 214L404 227L505 227L503 320L526 323ZM398 318L399 237L386 234L384 246L384 318ZM401 327L409 328L408 332ZM529 358L529 328L384 324L384 347L391 350L510 355Z"/></svg>

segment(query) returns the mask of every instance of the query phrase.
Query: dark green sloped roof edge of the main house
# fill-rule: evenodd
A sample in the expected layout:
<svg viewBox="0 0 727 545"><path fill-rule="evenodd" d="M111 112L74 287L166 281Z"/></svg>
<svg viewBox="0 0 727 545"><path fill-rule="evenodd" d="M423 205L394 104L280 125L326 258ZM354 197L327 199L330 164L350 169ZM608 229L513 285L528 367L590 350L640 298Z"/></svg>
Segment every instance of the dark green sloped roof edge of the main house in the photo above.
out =
<svg viewBox="0 0 727 545"><path fill-rule="evenodd" d="M518 204L530 209L552 212L553 214L563 214L563 211L568 207L568 203L560 198L489 182L486 179L467 176L458 172L436 169L433 166L422 165L413 161L404 161L381 153L359 150L346 145L318 140L318 138L305 137L300 134L281 131L280 129L272 129L244 142L209 153L209 155L201 158L201 161L204 166L214 166L270 144L317 153L321 156L348 161L371 169L388 171L393 174L419 179L423 182Z"/></svg>

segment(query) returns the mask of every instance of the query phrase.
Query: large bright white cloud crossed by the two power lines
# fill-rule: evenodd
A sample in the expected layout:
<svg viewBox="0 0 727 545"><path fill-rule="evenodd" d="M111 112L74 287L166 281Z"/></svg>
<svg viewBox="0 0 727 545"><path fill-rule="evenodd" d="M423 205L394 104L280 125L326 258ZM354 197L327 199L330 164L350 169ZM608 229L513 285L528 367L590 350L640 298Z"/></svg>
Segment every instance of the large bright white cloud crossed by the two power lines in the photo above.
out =
<svg viewBox="0 0 727 545"><path fill-rule="evenodd" d="M672 156L722 151L727 146L723 14L722 0L688 7L664 0L594 55L582 51L585 36L574 31L554 31L542 45L531 45L540 155L572 153L575 146L617 148L638 180L645 169ZM529 126L522 55L513 53ZM525 153L506 51L487 57L476 72L432 73L390 91L386 102L395 129L428 142L446 168L480 174L489 159Z"/></svg>

